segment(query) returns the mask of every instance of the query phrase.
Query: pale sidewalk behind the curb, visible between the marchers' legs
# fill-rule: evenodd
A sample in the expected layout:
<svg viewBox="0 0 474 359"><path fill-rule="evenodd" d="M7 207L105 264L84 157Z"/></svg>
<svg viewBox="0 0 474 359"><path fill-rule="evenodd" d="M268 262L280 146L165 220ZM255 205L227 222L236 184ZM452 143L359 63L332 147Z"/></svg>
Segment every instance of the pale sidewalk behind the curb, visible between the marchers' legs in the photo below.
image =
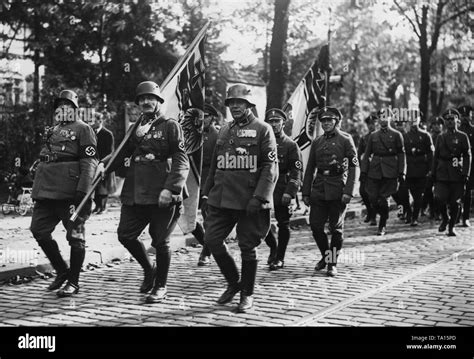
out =
<svg viewBox="0 0 474 359"><path fill-rule="evenodd" d="M301 209L294 212L291 219L292 229L297 229L308 223L306 207L300 201ZM358 218L365 215L360 198L354 198L349 204L346 219ZM109 201L107 212L92 215L86 223L86 259L84 268L90 269L112 261L129 260L129 252L117 240L117 226L120 218L120 203L118 200ZM273 223L275 223L275 220ZM52 270L49 261L39 248L36 240L29 231L31 213L22 217L19 215L0 214L0 283L13 280L18 283L28 281L31 277ZM69 244L66 241L66 230L61 224L53 232L53 238L58 242L61 253L69 258ZM230 238L235 238L235 232ZM151 238L145 230L140 236L149 253L154 249L150 246ZM184 235L177 226L171 235L172 251L198 245L192 234ZM37 272L40 272L38 274ZM26 277L26 278L24 278ZM28 278L30 277L30 278Z"/></svg>

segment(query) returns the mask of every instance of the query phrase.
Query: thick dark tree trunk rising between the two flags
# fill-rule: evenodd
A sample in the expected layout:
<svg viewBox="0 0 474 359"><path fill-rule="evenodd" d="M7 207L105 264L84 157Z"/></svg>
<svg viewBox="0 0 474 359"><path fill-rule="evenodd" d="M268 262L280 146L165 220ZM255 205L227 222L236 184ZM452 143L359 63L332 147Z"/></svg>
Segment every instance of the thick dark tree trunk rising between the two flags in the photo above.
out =
<svg viewBox="0 0 474 359"><path fill-rule="evenodd" d="M288 69L284 53L288 34L288 8L291 0L275 0L272 42L270 44L270 73L267 86L267 110L281 108Z"/></svg>

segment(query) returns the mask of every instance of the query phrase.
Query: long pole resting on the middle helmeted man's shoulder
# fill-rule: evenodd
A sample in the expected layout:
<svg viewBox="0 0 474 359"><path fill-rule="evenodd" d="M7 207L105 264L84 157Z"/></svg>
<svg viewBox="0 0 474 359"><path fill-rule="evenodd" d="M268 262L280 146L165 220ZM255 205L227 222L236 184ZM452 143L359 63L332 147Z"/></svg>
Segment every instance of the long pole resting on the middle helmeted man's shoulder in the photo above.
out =
<svg viewBox="0 0 474 359"><path fill-rule="evenodd" d="M197 34L197 36L194 38L193 42L188 46L188 48L186 49L186 52L184 53L183 56L181 56L181 58L179 59L179 61L176 63L176 65L174 65L173 69L171 70L171 72L168 74L168 76L166 76L165 80L163 81L163 83L161 84L160 88L163 89L165 88L169 82L171 81L171 79L176 75L176 73L179 71L179 69L181 68L181 66L183 65L184 61L186 61L188 55L190 54L190 52L194 49L195 45L198 43L198 41L201 40L201 38L204 36L204 34L206 33L207 29L209 28L209 25L211 24L211 21L207 21L206 24L204 24L204 26L202 27L202 29L199 31L199 33ZM125 146L125 144L128 142L128 140L130 139L130 137L132 136L132 133L133 131L136 130L136 128L138 127L138 121L135 121L135 123L133 124L132 127L130 127L128 129L128 131L125 133L125 137L123 138L122 142L120 143L120 145L117 147L117 149L111 154L110 156L110 160L107 162L107 166L105 167L104 169L104 173L107 173L107 171L110 169L110 167L112 166L112 163L115 161L115 159L117 158L118 154L120 153L120 151L123 149L123 147ZM86 193L86 196L83 198L83 200L81 201L81 203L77 206L77 208L75 209L74 213L71 215L71 217L69 218L69 220L71 222L74 222L78 217L79 217L79 213L82 211L82 209L84 208L84 206L86 205L87 201L89 200L89 198L92 196L92 194L94 193L95 189L97 188L97 186L99 185L99 183L101 182L101 178L100 176L95 178L94 181L92 182L92 186L91 188L89 189L89 191Z"/></svg>

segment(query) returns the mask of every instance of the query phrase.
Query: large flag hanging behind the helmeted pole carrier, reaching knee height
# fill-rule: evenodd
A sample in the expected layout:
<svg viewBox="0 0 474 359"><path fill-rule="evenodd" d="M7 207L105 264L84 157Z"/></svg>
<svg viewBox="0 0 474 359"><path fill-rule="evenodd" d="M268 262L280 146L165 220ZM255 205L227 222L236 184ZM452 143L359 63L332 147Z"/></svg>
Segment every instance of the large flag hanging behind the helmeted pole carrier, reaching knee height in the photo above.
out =
<svg viewBox="0 0 474 359"><path fill-rule="evenodd" d="M178 221L184 234L192 232L196 227L203 141L202 119L197 122L189 121L184 113L189 108L204 110L204 42L208 27L209 22L201 29L161 88L165 100L164 115L180 122L189 157L190 171L186 180L189 196L183 202L184 213Z"/></svg>

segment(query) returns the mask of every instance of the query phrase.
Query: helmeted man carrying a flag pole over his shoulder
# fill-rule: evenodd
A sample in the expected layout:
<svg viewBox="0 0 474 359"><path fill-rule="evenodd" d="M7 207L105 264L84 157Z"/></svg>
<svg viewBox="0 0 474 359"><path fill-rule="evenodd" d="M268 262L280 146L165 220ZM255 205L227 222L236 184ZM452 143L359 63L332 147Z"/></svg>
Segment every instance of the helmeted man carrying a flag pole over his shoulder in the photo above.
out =
<svg viewBox="0 0 474 359"><path fill-rule="evenodd" d="M123 161L128 167L120 197L122 211L117 233L120 243L143 268L140 292L151 290L147 303L161 302L167 295L170 235L181 214L182 193L189 172L181 126L163 116L163 102L156 83L144 81L137 86L135 103L142 111L137 120L139 125L109 168L114 171ZM100 172L108 160L110 156L100 163ZM147 225L150 225L151 245L156 249L156 270L138 239Z"/></svg>

